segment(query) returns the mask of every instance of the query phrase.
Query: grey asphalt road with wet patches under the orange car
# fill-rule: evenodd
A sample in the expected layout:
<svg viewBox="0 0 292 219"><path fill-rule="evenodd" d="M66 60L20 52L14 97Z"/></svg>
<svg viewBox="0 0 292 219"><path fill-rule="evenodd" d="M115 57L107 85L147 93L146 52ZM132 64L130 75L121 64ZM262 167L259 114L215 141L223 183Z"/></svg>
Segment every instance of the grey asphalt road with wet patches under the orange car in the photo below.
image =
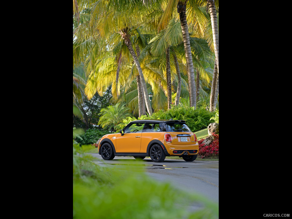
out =
<svg viewBox="0 0 292 219"><path fill-rule="evenodd" d="M114 165L116 168L135 168L134 157L115 157L106 161L99 154L90 153L98 165ZM139 162L139 166L152 178L160 182L171 183L174 187L193 192L219 203L219 161L186 162L184 160L165 159L155 163L150 158ZM129 168L130 167L130 168Z"/></svg>

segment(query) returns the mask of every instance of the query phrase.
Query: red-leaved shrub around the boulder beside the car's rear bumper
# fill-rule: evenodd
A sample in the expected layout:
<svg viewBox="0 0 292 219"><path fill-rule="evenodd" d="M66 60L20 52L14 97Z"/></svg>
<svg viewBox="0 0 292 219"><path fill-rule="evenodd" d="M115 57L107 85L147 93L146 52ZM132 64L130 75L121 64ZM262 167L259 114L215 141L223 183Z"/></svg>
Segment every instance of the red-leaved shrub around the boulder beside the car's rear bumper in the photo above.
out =
<svg viewBox="0 0 292 219"><path fill-rule="evenodd" d="M199 156L201 156L202 159L205 157L219 158L219 135L215 133L212 133L212 135L214 136L214 140L210 145L205 146L205 143L203 143L205 138L198 141Z"/></svg>

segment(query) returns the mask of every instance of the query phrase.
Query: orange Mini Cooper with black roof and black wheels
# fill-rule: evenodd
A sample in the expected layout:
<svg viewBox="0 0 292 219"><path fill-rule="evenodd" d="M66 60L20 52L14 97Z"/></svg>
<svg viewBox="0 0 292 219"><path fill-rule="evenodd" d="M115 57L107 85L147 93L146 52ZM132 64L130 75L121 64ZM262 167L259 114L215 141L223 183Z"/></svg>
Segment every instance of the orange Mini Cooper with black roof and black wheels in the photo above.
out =
<svg viewBox="0 0 292 219"><path fill-rule="evenodd" d="M105 160L115 156L150 157L154 162L166 156L194 161L199 152L197 136L183 120L136 120L119 133L102 136L98 153Z"/></svg>

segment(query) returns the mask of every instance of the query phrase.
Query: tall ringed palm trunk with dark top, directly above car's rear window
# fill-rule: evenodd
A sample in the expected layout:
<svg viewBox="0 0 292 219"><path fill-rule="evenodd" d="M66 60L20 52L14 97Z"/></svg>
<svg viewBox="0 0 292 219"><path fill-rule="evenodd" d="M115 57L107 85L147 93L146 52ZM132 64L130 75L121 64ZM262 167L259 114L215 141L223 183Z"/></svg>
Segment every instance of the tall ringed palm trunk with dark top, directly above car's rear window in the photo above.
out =
<svg viewBox="0 0 292 219"><path fill-rule="evenodd" d="M189 82L190 106L196 108L196 84L194 76L194 66L192 59L192 51L190 46L190 36L187 26L187 17L185 15L186 2L178 2L178 13L180 15L180 26L183 32L183 43L185 47L185 58L187 61L187 78Z"/></svg>

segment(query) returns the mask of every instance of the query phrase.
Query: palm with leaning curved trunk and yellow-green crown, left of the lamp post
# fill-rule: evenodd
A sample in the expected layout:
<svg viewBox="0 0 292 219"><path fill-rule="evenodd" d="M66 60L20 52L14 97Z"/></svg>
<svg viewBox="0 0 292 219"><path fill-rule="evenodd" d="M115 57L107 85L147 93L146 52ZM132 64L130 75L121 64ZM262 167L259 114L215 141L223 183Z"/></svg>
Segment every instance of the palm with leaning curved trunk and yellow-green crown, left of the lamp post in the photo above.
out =
<svg viewBox="0 0 292 219"><path fill-rule="evenodd" d="M87 4L87 1L81 0L79 10L82 7L88 6ZM135 51L132 47L133 42L131 42L131 34L135 32L135 29L139 26L139 23L143 22L145 16L153 11L159 10L160 5L158 3L152 3L150 8L143 5L143 3L140 1L128 2L126 0L114 0L110 3L108 1L98 1L92 3L89 5L89 7L91 10L91 20L89 21L90 25L83 29L85 29L86 32L91 31L91 38L94 38L95 40L103 39L104 41L107 41L108 44L110 43L108 40L112 34L120 34L120 37L124 40L124 43L126 44L128 51L130 52L131 57L133 58L134 63L138 69L141 87L144 93L145 104L148 113L151 115L152 109L150 107L150 100L148 98L146 81L137 55L135 54ZM96 52L93 49L91 49L91 51L94 51L94 53ZM92 64L94 65L95 63L90 63L90 65ZM88 88L86 94L92 96L93 91L90 91Z"/></svg>

